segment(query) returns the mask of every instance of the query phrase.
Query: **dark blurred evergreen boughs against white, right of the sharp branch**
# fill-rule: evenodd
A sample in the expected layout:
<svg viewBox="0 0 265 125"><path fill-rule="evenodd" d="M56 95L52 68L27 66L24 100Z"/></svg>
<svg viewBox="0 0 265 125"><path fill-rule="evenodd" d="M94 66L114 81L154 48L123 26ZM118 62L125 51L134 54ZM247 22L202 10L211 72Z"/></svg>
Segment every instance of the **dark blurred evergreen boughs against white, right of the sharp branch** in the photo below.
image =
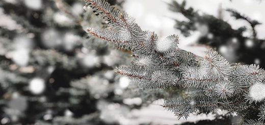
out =
<svg viewBox="0 0 265 125"><path fill-rule="evenodd" d="M202 14L192 7L188 8L186 1L182 3L172 1L169 9L188 18L188 21L176 19L175 28L180 30L184 36L190 36L193 31L200 31L202 34L197 42L213 47L229 62L255 63L260 67L265 67L265 57L262 55L265 53L265 40L258 39L256 36L255 28L261 24L257 20L252 20L233 9L227 9L226 11L230 12L232 17L245 20L249 24L249 26L233 29L228 22L222 19L222 8L220 8L219 17ZM250 37L243 35L247 30L252 32Z"/></svg>

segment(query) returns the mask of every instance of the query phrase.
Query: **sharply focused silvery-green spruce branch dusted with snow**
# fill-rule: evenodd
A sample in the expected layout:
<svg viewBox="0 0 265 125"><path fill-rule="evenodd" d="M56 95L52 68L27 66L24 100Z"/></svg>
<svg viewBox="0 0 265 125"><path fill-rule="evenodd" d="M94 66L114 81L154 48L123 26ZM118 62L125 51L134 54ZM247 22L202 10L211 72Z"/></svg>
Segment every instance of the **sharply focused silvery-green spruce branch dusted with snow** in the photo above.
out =
<svg viewBox="0 0 265 125"><path fill-rule="evenodd" d="M133 18L109 3L85 2L95 14L108 21L106 29L86 31L129 49L134 58L130 65L118 67L117 73L138 81L143 89L197 88L204 92L200 96L166 99L163 107L178 118L221 109L242 114L247 122L248 111L259 108L264 112L265 71L258 65L231 65L213 49L199 57L180 49L177 35L160 41L154 32L141 30ZM263 112L256 114L258 121L250 120L263 122Z"/></svg>

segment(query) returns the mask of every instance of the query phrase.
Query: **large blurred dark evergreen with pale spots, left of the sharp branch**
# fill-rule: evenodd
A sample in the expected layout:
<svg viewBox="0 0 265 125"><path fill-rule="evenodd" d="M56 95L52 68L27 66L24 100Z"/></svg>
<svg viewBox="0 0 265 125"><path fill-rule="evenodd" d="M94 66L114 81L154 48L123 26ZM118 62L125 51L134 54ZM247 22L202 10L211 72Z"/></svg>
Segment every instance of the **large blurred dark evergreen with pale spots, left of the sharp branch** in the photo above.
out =
<svg viewBox="0 0 265 125"><path fill-rule="evenodd" d="M118 124L137 108L113 70L130 55L84 32L106 27L84 5L0 1L0 124Z"/></svg>

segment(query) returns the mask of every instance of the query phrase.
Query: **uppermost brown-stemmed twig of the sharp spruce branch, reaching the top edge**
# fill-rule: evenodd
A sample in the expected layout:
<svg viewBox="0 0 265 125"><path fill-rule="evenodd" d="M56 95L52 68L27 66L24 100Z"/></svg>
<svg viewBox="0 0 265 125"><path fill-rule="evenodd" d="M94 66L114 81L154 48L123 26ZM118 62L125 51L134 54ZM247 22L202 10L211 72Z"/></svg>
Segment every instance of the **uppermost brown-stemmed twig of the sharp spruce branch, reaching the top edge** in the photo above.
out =
<svg viewBox="0 0 265 125"><path fill-rule="evenodd" d="M105 20L109 21L110 29L113 29L117 33L126 31L123 34L130 36L129 41L133 42L133 44L144 41L146 32L142 31L134 19L129 17L128 14L115 9L104 0L85 0L85 2L87 2L87 6L90 6L94 10L95 14L100 14Z"/></svg>

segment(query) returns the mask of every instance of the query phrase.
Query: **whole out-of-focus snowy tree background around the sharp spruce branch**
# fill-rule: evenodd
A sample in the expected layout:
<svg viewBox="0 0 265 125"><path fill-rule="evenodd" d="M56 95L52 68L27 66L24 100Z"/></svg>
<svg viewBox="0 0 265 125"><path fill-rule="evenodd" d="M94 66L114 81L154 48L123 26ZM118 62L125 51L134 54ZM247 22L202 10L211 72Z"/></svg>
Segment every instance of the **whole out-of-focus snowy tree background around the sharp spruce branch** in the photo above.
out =
<svg viewBox="0 0 265 125"><path fill-rule="evenodd" d="M265 2L108 0L182 49L216 49L231 63L265 68ZM114 69L130 52L84 29L106 22L82 0L0 1L0 124L231 124L223 112L187 120L161 105L170 90L142 90Z"/></svg>

